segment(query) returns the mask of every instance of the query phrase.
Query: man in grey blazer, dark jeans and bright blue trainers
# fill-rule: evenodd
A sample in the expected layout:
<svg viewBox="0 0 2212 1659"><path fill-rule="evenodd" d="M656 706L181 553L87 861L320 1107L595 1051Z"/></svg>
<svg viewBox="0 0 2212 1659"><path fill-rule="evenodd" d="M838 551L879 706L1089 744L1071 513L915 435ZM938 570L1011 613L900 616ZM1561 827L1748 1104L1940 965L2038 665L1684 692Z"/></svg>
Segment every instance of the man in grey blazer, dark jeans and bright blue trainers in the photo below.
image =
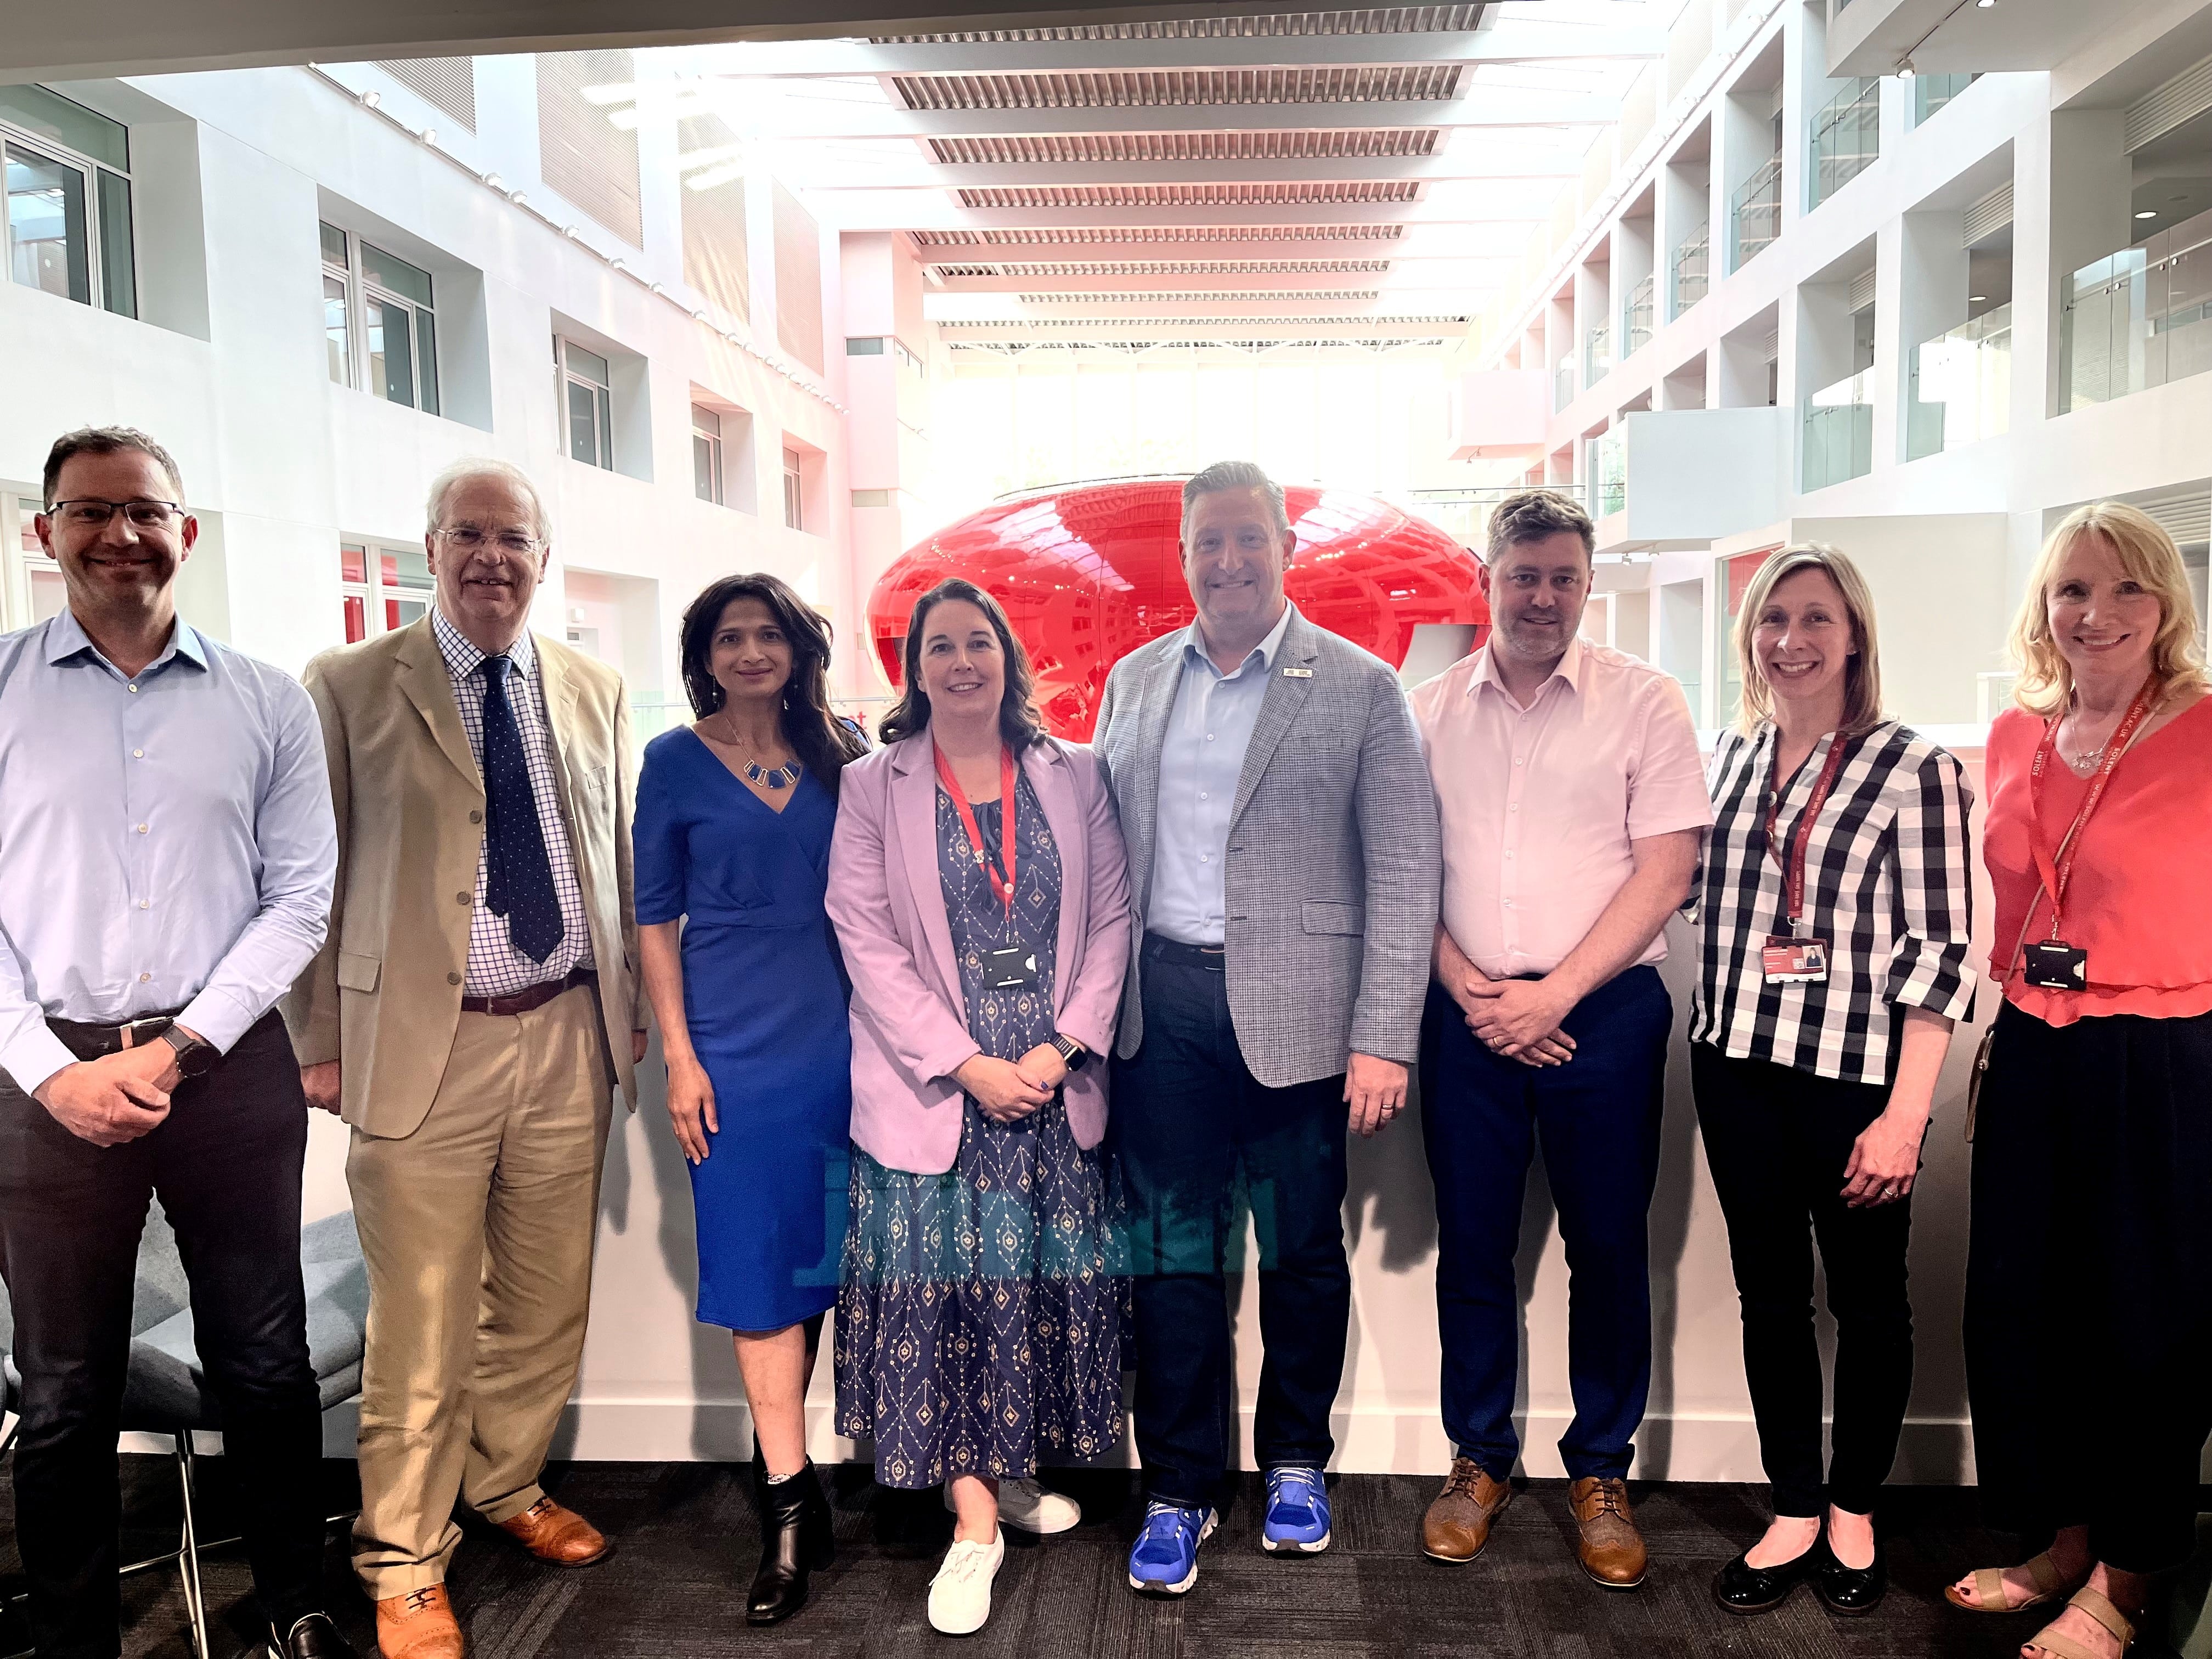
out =
<svg viewBox="0 0 2212 1659"><path fill-rule="evenodd" d="M1130 1197L1130 1586L1181 1595L1237 1453L1225 1252L1259 1228L1263 1546L1329 1544L1345 1369L1345 1128L1405 1110L1440 852L1391 668L1283 597L1296 538L1250 462L1183 487L1197 622L1119 661L1097 754L1128 843L1130 973L1108 1141Z"/></svg>

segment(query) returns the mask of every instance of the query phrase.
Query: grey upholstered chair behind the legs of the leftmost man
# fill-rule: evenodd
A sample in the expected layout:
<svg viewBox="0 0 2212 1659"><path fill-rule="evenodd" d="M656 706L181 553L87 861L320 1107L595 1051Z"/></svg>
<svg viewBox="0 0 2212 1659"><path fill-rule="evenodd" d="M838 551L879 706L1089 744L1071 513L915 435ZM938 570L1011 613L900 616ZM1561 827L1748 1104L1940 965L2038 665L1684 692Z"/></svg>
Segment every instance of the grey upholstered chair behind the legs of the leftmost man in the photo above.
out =
<svg viewBox="0 0 2212 1659"><path fill-rule="evenodd" d="M361 1237L349 1210L310 1221L301 1232L301 1272L307 1281L307 1360L323 1394L323 1409L341 1405L361 1391L361 1352L369 1318L369 1279L361 1263ZM15 1374L15 1316L0 1290L0 1380L4 1405L13 1413L22 1378ZM177 1548L148 1555L124 1566L124 1575L175 1566L184 1579L184 1606L192 1619L192 1650L212 1659L208 1646L208 1608L199 1588L199 1555L234 1537L206 1540L192 1513L195 1498L195 1431L219 1431L221 1411L199 1369L192 1347L192 1307L177 1259L177 1234L161 1208L146 1217L139 1241L137 1296L131 1303L131 1371L124 1383L124 1433L161 1433L175 1440L177 1482L184 1493L184 1528ZM4 1451L15 1438L13 1422Z"/></svg>

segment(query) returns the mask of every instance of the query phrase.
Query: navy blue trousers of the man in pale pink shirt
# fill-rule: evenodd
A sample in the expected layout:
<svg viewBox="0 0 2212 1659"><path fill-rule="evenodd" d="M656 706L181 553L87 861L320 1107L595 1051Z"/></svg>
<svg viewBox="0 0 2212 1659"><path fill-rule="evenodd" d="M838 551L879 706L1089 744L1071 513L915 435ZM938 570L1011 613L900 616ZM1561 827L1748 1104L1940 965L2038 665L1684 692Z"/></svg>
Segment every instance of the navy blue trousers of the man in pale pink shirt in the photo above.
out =
<svg viewBox="0 0 2212 1659"><path fill-rule="evenodd" d="M1420 1037L1420 1121L1436 1181L1436 1321L1444 1347L1444 1431L1462 1458L1504 1480L1520 1458L1522 1194L1537 1139L1566 1245L1566 1369L1575 1420L1559 1440L1573 1480L1619 1478L1652 1376L1650 1243L1659 1175L1666 1040L1674 1009L1659 971L1632 967L1575 1004L1564 1066L1500 1060L1429 987Z"/></svg>

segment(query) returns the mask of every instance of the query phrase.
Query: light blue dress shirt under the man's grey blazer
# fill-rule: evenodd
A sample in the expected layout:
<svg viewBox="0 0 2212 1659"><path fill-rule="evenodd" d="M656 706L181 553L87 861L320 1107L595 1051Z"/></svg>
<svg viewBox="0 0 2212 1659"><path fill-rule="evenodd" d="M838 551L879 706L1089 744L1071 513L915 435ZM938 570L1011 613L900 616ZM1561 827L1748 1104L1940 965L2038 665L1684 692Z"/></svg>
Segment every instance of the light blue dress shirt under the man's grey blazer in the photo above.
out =
<svg viewBox="0 0 2212 1659"><path fill-rule="evenodd" d="M1152 889L1144 902L1148 933L1183 945L1221 945L1225 938L1221 860L1230 845L1237 779L1290 613L1285 604L1234 675L1214 668L1197 622L1183 628L1183 677L1175 684L1175 708L1159 748Z"/></svg>

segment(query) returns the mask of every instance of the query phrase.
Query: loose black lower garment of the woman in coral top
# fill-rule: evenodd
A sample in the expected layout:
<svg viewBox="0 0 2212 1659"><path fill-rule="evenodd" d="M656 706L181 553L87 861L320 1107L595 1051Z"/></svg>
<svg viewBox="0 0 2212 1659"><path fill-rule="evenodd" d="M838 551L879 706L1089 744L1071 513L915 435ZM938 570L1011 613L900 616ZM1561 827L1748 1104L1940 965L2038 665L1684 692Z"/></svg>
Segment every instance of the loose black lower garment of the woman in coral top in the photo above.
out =
<svg viewBox="0 0 2212 1659"><path fill-rule="evenodd" d="M1966 1391L1993 1526L2188 1559L2212 1433L2212 1013L2048 1026L2011 1002L1982 1086Z"/></svg>

